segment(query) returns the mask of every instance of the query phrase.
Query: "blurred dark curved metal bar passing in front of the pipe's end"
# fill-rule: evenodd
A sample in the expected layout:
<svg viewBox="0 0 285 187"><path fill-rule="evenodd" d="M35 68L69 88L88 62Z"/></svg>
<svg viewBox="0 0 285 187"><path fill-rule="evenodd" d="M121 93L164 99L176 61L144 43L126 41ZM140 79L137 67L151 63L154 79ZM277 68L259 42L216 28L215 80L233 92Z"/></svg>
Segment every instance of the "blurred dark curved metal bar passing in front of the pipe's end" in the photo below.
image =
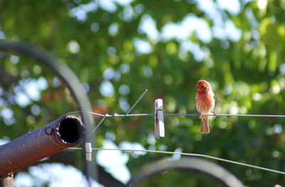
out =
<svg viewBox="0 0 285 187"><path fill-rule="evenodd" d="M61 63L56 57L47 53L44 50L36 48L31 44L18 43L11 41L0 41L0 50L13 50L18 53L23 53L25 55L31 55L36 58L43 65L51 68L58 77L60 77L66 84L71 94L75 98L81 111L91 111L91 104L86 92L84 91L81 81L78 79L75 73L68 67L68 65ZM90 117L87 113L81 113L83 124L86 126L86 133L90 132L94 128L94 119ZM86 136L86 142L93 142L95 144L95 134L91 136ZM84 149L83 149L84 150ZM84 156L85 158L85 156ZM92 162L86 163L86 176L93 176L96 178L95 173L95 159Z"/></svg>

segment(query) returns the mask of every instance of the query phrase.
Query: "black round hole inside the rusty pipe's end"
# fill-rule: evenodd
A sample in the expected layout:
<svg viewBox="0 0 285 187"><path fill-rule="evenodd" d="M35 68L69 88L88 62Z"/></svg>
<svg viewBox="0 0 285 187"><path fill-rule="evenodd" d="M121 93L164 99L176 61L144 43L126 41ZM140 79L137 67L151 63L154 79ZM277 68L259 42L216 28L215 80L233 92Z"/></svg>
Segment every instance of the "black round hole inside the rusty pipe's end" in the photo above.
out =
<svg viewBox="0 0 285 187"><path fill-rule="evenodd" d="M83 126L77 118L66 118L59 124L58 133L65 143L74 144L81 139Z"/></svg>

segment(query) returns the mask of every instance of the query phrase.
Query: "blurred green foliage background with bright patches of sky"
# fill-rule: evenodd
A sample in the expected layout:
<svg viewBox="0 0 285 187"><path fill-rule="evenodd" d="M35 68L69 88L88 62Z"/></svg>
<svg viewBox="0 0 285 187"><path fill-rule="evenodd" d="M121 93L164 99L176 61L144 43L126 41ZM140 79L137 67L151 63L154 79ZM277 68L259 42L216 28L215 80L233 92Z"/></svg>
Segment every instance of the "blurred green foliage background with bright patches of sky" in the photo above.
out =
<svg viewBox="0 0 285 187"><path fill-rule="evenodd" d="M31 43L75 71L93 112L197 113L195 83L211 82L214 111L284 114L284 0L61 0L0 1L0 38ZM31 57L0 53L1 144L78 109L66 86ZM95 118L98 122L100 118ZM284 118L217 117L199 134L198 117L165 117L155 140L153 117L105 119L98 147L207 154L285 171ZM98 151L101 179L120 186L163 154ZM284 183L281 174L215 161L247 186ZM16 186L83 186L80 151L63 151L16 173ZM212 186L186 171L162 173L144 186ZM215 182L216 183L216 182Z"/></svg>

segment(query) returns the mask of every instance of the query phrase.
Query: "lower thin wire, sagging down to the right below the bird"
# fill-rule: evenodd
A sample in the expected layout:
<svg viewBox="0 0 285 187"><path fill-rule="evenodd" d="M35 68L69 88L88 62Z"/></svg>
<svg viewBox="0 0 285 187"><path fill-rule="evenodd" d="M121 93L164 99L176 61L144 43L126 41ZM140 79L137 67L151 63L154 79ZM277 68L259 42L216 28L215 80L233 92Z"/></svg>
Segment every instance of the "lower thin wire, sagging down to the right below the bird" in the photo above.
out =
<svg viewBox="0 0 285 187"><path fill-rule="evenodd" d="M71 147L68 148L71 150L81 150L82 148L80 147ZM238 161L231 161L231 160L227 160L227 159L221 159L215 156L208 156L205 154L190 154L190 153L180 153L180 152L173 152L173 151L155 151L155 150L145 150L145 149L115 149L115 148L92 148L92 150L105 150L105 151L126 151L126 152L133 152L133 151L140 151L140 152L150 152L150 153L159 153L159 154L180 154L180 155L184 155L184 156L198 156L198 157L204 157L204 158L208 158L208 159L215 159L218 161L224 161L224 162L228 162L231 164L237 164L237 165L241 165L241 166L247 166L250 168L254 168L254 169L261 169L261 170L265 170L265 171L270 171L270 172L274 172L274 173L280 173L285 175L285 172L283 171L278 171L278 170L274 170L274 169L267 169L264 167L259 167L259 166L254 166L251 164L244 164Z"/></svg>

